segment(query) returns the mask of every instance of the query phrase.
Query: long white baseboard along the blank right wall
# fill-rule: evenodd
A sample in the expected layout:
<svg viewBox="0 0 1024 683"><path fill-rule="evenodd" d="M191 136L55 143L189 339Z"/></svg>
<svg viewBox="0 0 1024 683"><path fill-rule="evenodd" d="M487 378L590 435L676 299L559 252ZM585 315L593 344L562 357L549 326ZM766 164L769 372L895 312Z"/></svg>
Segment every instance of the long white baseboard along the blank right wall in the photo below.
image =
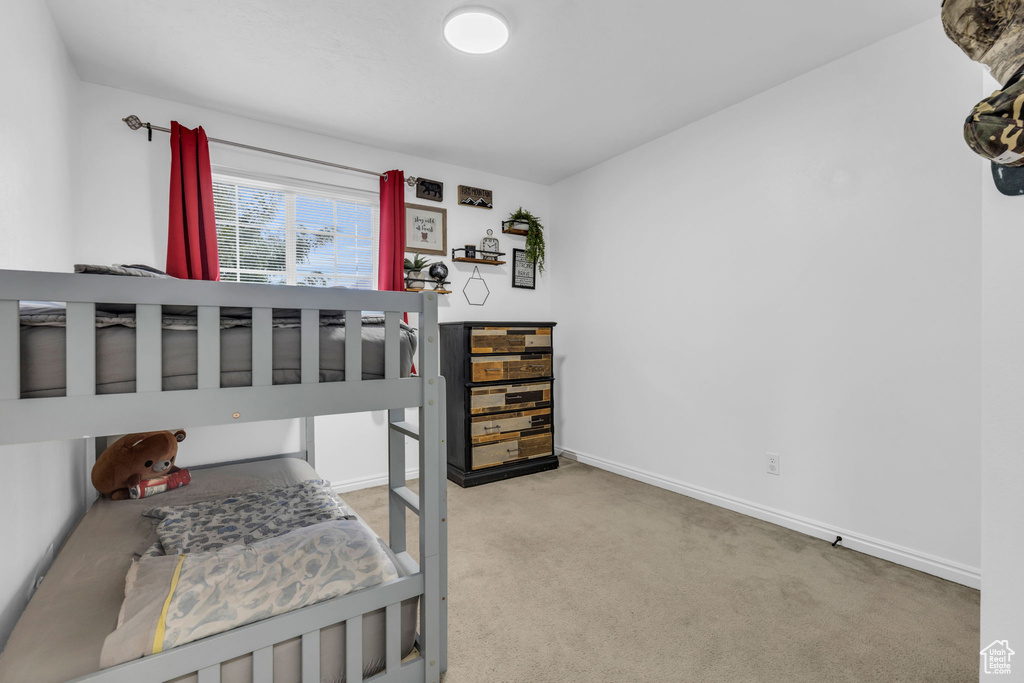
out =
<svg viewBox="0 0 1024 683"><path fill-rule="evenodd" d="M844 548L849 548L850 550L856 550L867 555L889 560L890 562L895 562L896 564L902 564L903 566L910 567L911 569L918 569L920 571L924 571L925 573L930 573L970 588L981 588L981 570L978 567L968 566L966 564L961 564L959 562L953 562L941 557L911 550L910 548L904 548L903 546L888 543L880 539L873 539L862 533L857 533L856 531L851 531L850 529L829 526L824 522L807 519L806 517L800 517L798 515L790 514L788 512L783 512L782 510L769 508L757 503L735 498L733 496L720 494L700 486L694 486L683 481L664 477L659 474L647 472L635 467L628 467L618 463L612 463L601 458L580 453L579 451L569 451L568 449L562 449L560 446L555 446L555 451L561 451L559 455L564 458L568 458L569 460L574 460L577 462L584 463L585 465L591 465L608 472L621 474L622 476L630 479L643 481L644 483L649 483L652 486L657 486L658 488L665 488L677 494L682 494L683 496L687 496L689 498L695 498L698 501L711 503L712 505L717 505L720 508L725 508L750 517L762 519L766 522L771 522L772 524L778 524L779 526L784 526L785 528L793 529L794 531L800 531L801 533L806 533L807 536L811 536L816 539L828 541L829 543L835 541L837 536L841 536L843 537L843 541L841 543Z"/></svg>

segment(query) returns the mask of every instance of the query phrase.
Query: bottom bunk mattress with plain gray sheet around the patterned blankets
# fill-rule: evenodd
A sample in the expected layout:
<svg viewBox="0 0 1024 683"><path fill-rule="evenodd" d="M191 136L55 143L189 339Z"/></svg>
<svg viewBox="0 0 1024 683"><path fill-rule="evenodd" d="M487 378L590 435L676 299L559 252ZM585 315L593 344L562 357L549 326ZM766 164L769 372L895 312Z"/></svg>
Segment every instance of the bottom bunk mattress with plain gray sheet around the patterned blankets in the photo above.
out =
<svg viewBox="0 0 1024 683"><path fill-rule="evenodd" d="M219 500L226 495L291 487L318 478L315 470L304 461L279 458L193 470L189 485L153 498L138 501L97 500L68 538L14 628L3 654L0 655L0 681L58 683L99 671L104 664L101 657L106 660L105 664L111 664L112 651L122 659L138 656L136 653L126 657L123 639L119 645L119 635L112 635L115 634L119 618L126 620L124 627L117 630L119 634L132 629L131 601L125 599L126 575L129 586L144 583L144 580L135 575L141 571L136 569L143 564L133 564L133 560L140 555L148 556L150 559L175 559L167 556L153 557L161 547L160 539L155 530L155 520L143 516L143 513L154 508L176 509L177 506L194 504L198 504L196 507L199 509L203 502ZM351 512L343 503L340 510L344 513ZM166 513L158 513L158 517L161 514ZM189 520L186 526L195 541L198 525ZM376 537L373 540L390 554L382 541ZM178 550L172 548L171 552L176 553ZM195 557L208 554L197 553ZM403 572L400 564L394 562L393 557L391 561L398 575L401 575ZM417 608L416 599L402 603L403 656L414 645ZM365 676L383 669L384 622L383 609L364 616ZM344 624L322 630L322 681L336 682L344 679ZM116 651L118 649L121 653ZM296 637L275 645L273 653L273 680L276 683L299 681L300 639ZM187 683L195 680L196 676L193 675L176 679L176 682ZM250 655L224 663L221 667L222 683L251 680Z"/></svg>

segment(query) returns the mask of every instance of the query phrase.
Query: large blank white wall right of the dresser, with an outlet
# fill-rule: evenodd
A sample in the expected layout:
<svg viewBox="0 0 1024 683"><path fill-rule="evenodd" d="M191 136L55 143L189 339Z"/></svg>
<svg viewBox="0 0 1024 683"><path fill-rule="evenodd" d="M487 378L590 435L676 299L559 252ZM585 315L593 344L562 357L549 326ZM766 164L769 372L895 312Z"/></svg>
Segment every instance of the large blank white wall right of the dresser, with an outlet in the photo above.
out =
<svg viewBox="0 0 1024 683"><path fill-rule="evenodd" d="M979 73L929 22L556 184L560 443L977 585Z"/></svg>

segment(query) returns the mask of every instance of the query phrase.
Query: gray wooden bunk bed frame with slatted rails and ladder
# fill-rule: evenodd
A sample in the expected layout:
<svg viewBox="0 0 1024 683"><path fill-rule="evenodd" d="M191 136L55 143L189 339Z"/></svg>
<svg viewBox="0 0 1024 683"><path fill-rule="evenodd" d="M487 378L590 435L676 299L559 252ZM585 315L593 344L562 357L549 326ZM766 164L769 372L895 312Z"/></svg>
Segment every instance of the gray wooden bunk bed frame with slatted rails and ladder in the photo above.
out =
<svg viewBox="0 0 1024 683"><path fill-rule="evenodd" d="M67 303L67 395L20 397L19 301ZM96 394L97 303L136 306L136 391ZM198 307L198 388L162 390L162 305ZM220 307L252 308L252 386L220 387ZM301 383L272 383L272 312L300 309ZM344 310L345 380L319 381L319 310ZM361 314L383 311L384 379L364 380ZM399 319L419 313L413 377L400 377ZM368 681L437 683L447 668L447 524L444 475L444 378L438 374L437 295L237 283L0 270L0 445L165 429L168 421L202 426L305 420L305 458L312 463L312 417L388 411L388 545L408 575L333 600L232 629L76 679L89 683L168 681L198 674L219 683L221 663L252 655L254 683L270 683L273 646L301 637L302 681L318 683L319 631L345 623L346 681L362 678L362 615L385 608L386 668ZM419 425L406 421L418 409ZM407 486L406 437L419 439L419 495ZM88 478L88 469L86 477ZM87 499L88 500L88 499ZM406 512L419 516L417 561L406 547ZM401 660L400 605L419 596L420 656Z"/></svg>

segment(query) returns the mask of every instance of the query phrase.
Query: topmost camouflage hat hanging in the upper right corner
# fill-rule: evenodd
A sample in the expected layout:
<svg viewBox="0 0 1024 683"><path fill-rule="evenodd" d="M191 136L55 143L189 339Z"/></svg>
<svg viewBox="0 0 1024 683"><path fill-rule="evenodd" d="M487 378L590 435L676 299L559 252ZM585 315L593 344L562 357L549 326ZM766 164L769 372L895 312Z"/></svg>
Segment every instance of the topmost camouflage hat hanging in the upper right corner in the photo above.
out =
<svg viewBox="0 0 1024 683"><path fill-rule="evenodd" d="M999 83L1024 65L1024 0L943 0L942 27Z"/></svg>

